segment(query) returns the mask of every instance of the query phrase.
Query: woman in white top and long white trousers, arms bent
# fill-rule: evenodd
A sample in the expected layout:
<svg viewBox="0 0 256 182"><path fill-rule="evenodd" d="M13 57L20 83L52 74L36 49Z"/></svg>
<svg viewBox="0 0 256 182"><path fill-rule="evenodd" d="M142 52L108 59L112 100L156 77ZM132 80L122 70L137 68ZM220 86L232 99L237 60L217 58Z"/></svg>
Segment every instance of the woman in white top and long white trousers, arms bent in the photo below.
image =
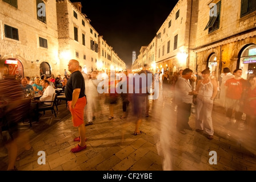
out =
<svg viewBox="0 0 256 182"><path fill-rule="evenodd" d="M204 131L208 135L208 139L213 139L213 120L211 112L213 111L214 98L217 96L217 82L211 80L209 69L202 71L203 80L199 80L197 88L198 94L196 98L196 118L195 129L197 132Z"/></svg>

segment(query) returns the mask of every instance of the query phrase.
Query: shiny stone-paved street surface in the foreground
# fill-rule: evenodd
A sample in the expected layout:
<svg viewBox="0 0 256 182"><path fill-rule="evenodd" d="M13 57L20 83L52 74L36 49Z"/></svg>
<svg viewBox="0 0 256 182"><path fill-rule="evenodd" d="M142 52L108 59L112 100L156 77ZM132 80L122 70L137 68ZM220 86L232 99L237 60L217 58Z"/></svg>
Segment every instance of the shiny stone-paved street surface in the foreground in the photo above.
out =
<svg viewBox="0 0 256 182"><path fill-rule="evenodd" d="M109 121L109 107L103 104L102 115L96 115L94 125L86 126L87 148L73 154L70 148L77 142L78 130L71 122L65 104L59 105L58 117L45 118L30 128L34 148L32 155L17 161L19 171L254 171L256 169L255 139L247 133L244 123L226 126L225 111L217 104L213 110L214 139L203 133L186 130L182 135L175 130L175 108L171 98L150 101L149 118L143 117L142 134L134 136L136 117L128 106L129 117L120 119L122 105L115 106L114 119ZM49 111L50 113L50 111ZM191 114L190 126L194 126ZM255 138L255 137L254 137ZM46 164L39 165L38 151L46 152ZM210 164L210 151L217 152L217 164ZM6 169L7 158L1 170Z"/></svg>

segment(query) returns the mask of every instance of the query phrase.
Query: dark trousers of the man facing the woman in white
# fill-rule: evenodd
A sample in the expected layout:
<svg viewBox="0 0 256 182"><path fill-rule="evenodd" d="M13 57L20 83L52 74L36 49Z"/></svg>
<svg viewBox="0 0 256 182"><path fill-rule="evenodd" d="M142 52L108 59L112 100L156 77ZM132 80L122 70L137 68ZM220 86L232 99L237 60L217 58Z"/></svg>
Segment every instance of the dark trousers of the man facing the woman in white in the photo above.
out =
<svg viewBox="0 0 256 182"><path fill-rule="evenodd" d="M192 104L186 104L182 102L177 105L177 130L183 130L189 128L189 117L191 115L191 106Z"/></svg>

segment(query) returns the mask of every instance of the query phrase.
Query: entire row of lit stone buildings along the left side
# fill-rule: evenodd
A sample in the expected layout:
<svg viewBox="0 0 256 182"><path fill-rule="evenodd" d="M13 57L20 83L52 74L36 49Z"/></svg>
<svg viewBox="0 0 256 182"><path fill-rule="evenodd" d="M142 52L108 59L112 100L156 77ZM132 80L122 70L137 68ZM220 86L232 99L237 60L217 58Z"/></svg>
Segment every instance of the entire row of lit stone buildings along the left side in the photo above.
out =
<svg viewBox="0 0 256 182"><path fill-rule="evenodd" d="M11 75L56 77L64 75L70 59L77 59L89 72L101 62L99 34L82 13L80 2L1 0L0 6L0 64ZM126 69L107 47L110 56L105 67Z"/></svg>

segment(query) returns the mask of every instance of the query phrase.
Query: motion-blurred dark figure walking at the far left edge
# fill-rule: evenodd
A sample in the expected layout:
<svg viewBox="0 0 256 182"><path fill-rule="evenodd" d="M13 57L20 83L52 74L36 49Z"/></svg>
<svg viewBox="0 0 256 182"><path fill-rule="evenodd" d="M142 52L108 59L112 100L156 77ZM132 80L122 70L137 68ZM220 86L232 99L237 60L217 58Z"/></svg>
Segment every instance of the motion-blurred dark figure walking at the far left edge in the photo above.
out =
<svg viewBox="0 0 256 182"><path fill-rule="evenodd" d="M0 80L0 103L0 131L1 133L7 131L11 137L9 140L3 140L8 151L7 170L14 171L17 170L14 165L18 150L25 148L29 151L31 149L29 135L19 131L19 122L27 116L29 111L27 108L30 107L31 100L25 98L17 80L13 76L6 75Z"/></svg>

